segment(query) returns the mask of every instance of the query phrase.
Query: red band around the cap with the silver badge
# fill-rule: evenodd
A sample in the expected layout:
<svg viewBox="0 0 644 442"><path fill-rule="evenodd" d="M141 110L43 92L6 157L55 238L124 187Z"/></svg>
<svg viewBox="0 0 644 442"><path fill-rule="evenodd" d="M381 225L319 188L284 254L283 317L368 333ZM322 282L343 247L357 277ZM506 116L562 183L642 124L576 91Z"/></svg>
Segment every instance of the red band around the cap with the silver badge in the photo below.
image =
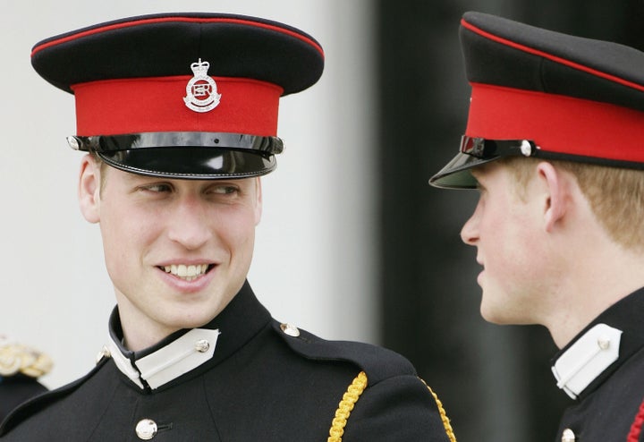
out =
<svg viewBox="0 0 644 442"><path fill-rule="evenodd" d="M283 89L266 81L212 77L219 104L196 112L184 103L190 75L91 81L72 86L79 136L140 132L233 132L275 136Z"/></svg>

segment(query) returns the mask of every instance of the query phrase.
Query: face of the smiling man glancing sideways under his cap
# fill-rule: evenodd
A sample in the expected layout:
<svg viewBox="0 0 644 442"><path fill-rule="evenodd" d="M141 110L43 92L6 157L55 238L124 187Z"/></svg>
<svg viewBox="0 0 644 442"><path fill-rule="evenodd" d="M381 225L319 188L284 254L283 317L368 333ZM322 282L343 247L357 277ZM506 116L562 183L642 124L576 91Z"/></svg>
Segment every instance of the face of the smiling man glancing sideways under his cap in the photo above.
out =
<svg viewBox="0 0 644 442"><path fill-rule="evenodd" d="M250 268L259 179L174 180L103 169L104 188L94 191L89 216L83 213L100 223L123 327L164 337L208 323ZM81 174L81 208L82 186Z"/></svg>

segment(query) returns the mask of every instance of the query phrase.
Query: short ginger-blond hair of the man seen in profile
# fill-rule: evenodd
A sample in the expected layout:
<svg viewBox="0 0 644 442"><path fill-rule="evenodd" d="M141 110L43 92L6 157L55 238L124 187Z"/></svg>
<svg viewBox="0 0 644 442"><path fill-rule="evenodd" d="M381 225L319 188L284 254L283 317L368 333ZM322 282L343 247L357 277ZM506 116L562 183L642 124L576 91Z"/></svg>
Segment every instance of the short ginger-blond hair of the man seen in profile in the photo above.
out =
<svg viewBox="0 0 644 442"><path fill-rule="evenodd" d="M520 198L539 158L506 157ZM589 201L597 221L624 249L644 251L644 171L572 161L548 161L570 172Z"/></svg>

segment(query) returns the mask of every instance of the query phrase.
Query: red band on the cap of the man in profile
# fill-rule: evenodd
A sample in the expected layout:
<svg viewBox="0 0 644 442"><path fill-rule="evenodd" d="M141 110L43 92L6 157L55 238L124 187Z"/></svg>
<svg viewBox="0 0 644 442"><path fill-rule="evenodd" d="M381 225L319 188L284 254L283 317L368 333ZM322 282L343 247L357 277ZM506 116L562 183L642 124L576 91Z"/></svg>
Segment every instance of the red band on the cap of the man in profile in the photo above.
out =
<svg viewBox="0 0 644 442"><path fill-rule="evenodd" d="M466 135L532 140L544 151L644 162L644 112L569 96L471 83Z"/></svg>

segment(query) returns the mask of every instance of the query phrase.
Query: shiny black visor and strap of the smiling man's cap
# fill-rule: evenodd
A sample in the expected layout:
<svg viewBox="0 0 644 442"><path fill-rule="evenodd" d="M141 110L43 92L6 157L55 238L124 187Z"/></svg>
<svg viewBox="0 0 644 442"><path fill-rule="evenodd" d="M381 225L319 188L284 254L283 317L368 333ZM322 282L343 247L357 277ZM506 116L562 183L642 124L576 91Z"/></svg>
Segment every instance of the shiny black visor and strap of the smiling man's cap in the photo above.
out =
<svg viewBox="0 0 644 442"><path fill-rule="evenodd" d="M276 166L274 154L284 150L277 137L214 132L69 137L68 142L126 172L194 180L268 174Z"/></svg>

